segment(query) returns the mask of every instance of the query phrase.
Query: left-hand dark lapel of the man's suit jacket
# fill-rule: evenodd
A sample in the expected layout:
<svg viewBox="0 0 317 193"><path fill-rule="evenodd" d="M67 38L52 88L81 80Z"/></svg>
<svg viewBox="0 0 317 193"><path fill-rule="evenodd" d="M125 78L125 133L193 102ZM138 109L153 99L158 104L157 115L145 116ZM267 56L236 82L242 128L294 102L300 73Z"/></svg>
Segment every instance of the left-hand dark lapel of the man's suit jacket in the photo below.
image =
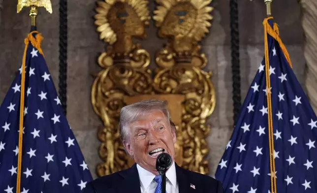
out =
<svg viewBox="0 0 317 193"><path fill-rule="evenodd" d="M135 163L120 176L125 180L118 185L117 193L141 193L140 178Z"/></svg>

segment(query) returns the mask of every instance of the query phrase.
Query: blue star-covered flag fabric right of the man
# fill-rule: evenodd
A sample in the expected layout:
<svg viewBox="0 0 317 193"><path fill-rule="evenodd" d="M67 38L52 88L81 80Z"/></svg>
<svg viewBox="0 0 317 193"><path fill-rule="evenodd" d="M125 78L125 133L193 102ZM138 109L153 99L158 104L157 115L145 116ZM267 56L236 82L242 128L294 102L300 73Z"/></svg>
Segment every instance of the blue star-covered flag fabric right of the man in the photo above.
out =
<svg viewBox="0 0 317 193"><path fill-rule="evenodd" d="M266 96L271 92L277 193L317 193L317 117L281 45L267 37L271 87L266 90L263 60L215 177L225 193L272 192Z"/></svg>

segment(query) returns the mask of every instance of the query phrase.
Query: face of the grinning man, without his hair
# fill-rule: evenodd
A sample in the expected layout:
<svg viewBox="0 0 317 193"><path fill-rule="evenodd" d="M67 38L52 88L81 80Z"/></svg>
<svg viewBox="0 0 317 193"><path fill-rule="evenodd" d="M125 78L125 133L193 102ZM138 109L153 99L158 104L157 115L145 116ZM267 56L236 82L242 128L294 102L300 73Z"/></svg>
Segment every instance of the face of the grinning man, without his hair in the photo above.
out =
<svg viewBox="0 0 317 193"><path fill-rule="evenodd" d="M124 145L134 161L144 169L158 175L156 159L167 153L174 161L176 133L161 111L154 111L128 126L129 141Z"/></svg>

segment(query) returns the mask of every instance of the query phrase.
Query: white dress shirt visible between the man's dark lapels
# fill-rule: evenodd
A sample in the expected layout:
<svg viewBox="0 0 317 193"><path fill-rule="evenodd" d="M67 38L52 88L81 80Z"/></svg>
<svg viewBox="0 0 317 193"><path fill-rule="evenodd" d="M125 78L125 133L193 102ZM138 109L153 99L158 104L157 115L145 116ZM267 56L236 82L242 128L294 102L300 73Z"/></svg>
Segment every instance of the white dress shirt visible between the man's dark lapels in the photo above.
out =
<svg viewBox="0 0 317 193"><path fill-rule="evenodd" d="M140 178L141 193L154 193L158 186L158 183L154 181L155 175L138 164L136 164L136 167ZM178 193L178 183L176 179L174 161L171 167L166 171L166 192Z"/></svg>

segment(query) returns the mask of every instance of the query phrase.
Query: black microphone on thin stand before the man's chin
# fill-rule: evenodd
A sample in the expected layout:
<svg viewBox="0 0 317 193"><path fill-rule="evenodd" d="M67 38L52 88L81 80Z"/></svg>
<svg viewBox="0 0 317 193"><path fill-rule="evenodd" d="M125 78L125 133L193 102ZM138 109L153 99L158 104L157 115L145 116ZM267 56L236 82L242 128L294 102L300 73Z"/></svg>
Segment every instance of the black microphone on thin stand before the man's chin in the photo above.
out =
<svg viewBox="0 0 317 193"><path fill-rule="evenodd" d="M159 172L159 175L162 176L162 189L161 193L166 193L166 171L172 165L172 157L167 153L159 154L157 158L156 168Z"/></svg>

